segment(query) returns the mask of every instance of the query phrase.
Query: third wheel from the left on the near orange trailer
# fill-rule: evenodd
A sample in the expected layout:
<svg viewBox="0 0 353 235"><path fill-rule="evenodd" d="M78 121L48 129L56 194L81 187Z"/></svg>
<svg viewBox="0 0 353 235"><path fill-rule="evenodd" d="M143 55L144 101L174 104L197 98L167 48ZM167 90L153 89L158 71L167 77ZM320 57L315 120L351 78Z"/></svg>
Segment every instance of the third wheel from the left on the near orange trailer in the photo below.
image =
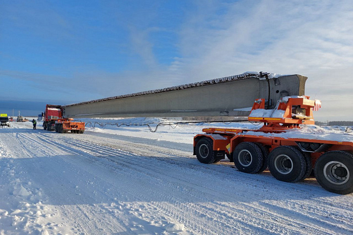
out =
<svg viewBox="0 0 353 235"><path fill-rule="evenodd" d="M296 147L278 146L268 155L268 169L277 180L298 182L305 174L306 161Z"/></svg>

